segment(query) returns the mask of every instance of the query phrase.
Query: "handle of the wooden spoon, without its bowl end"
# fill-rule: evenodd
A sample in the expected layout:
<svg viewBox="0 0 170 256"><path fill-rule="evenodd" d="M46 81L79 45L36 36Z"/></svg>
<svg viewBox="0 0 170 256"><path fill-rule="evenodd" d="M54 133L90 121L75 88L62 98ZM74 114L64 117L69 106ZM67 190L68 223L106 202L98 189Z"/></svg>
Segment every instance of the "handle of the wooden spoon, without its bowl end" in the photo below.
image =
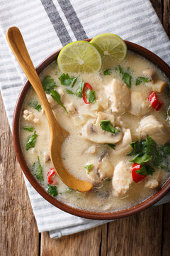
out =
<svg viewBox="0 0 170 256"><path fill-rule="evenodd" d="M45 114L47 116L47 120L50 125L50 129L60 129L60 125L57 124L57 120L55 119L50 104L47 101L47 97L40 82L40 78L38 77L32 60L30 59L30 55L23 41L23 36L21 35L20 30L16 27L8 28L8 30L6 31L6 38L9 46L11 47L11 50L13 51L13 54L18 60L18 63L21 65L23 72L26 74L28 80L30 81L30 84L33 86L35 92L40 98L42 106L45 110Z"/></svg>

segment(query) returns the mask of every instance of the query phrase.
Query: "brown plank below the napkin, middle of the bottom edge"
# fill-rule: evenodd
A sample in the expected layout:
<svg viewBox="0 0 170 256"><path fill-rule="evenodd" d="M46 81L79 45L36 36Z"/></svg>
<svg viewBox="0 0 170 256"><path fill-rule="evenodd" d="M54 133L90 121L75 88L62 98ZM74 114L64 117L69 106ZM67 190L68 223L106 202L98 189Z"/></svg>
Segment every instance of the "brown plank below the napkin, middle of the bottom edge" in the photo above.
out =
<svg viewBox="0 0 170 256"><path fill-rule="evenodd" d="M49 233L45 232L42 233L40 256L105 256L106 245L101 254L101 242L106 234L107 224L57 240L50 239Z"/></svg>

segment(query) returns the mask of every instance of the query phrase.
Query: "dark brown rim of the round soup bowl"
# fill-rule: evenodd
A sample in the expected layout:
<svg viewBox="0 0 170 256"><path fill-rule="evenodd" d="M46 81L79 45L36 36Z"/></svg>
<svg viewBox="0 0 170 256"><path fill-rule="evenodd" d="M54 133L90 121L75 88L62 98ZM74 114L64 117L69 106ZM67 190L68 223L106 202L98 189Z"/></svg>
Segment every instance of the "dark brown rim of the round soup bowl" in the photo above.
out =
<svg viewBox="0 0 170 256"><path fill-rule="evenodd" d="M86 41L91 41L91 39L86 39ZM146 48L139 46L135 43L125 41L125 43L128 46L128 50L131 50L132 52L138 53L139 55L142 55L143 57L147 58L147 60L150 60L154 65L157 65L157 67L163 71L163 73L170 78L170 68L169 65L167 65L164 60L159 58L156 54L152 53L150 50L147 50ZM60 49L61 50L61 49ZM60 53L60 50L57 50L55 53L52 53L49 57L47 57L45 60L38 65L36 68L38 74L42 72L48 65L50 65L53 61L57 60L57 55ZM16 102L16 107L13 114L13 144L14 149L16 151L17 159L21 165L21 169L23 170L23 173L26 175L26 178L28 178L28 181L31 183L33 188L35 188L40 195L45 198L49 203L52 203L53 206L56 206L57 208L60 208L61 210L64 210L67 213L77 215L81 218L89 218L94 220L114 220L117 218L123 218L126 216L130 216L132 214L138 213L142 210L147 209L149 206L152 206L154 203L157 203L163 196L166 195L166 193L170 190L170 178L164 183L162 188L155 193L153 196L147 198L147 200L143 201L142 203L137 204L136 206L133 206L131 208L125 209L125 210L119 210L115 212L110 213L102 213L102 212L93 212L93 211L86 211L86 210L80 210L77 208L73 208L71 206L68 206L65 203L62 203L60 201L57 201L56 198L53 198L50 196L47 191L45 191L42 186L40 186L40 183L35 179L33 174L31 173L30 169L28 169L28 166L26 164L26 160L24 159L22 150L21 150L21 144L20 144L20 137L19 137L19 119L21 115L21 109L23 105L23 100L26 97L26 93L28 92L30 88L30 82L27 80L26 83L23 85L22 90L20 94L18 95L18 100Z"/></svg>

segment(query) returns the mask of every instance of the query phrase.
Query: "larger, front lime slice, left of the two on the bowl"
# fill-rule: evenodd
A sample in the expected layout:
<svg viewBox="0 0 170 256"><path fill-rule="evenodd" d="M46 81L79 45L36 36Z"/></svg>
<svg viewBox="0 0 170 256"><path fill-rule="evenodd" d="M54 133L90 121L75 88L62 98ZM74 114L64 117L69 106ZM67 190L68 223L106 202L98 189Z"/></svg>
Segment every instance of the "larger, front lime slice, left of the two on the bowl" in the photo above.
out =
<svg viewBox="0 0 170 256"><path fill-rule="evenodd" d="M91 43L77 41L62 48L57 63L63 73L92 73L101 69L101 55Z"/></svg>

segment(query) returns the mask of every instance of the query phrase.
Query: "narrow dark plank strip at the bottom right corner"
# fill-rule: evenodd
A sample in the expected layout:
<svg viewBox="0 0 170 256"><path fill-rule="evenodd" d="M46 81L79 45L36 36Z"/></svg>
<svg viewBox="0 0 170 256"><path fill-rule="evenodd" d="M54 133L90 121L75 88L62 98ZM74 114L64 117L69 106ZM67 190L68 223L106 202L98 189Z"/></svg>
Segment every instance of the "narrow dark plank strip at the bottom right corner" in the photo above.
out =
<svg viewBox="0 0 170 256"><path fill-rule="evenodd" d="M162 256L170 255L170 203L163 206Z"/></svg>

